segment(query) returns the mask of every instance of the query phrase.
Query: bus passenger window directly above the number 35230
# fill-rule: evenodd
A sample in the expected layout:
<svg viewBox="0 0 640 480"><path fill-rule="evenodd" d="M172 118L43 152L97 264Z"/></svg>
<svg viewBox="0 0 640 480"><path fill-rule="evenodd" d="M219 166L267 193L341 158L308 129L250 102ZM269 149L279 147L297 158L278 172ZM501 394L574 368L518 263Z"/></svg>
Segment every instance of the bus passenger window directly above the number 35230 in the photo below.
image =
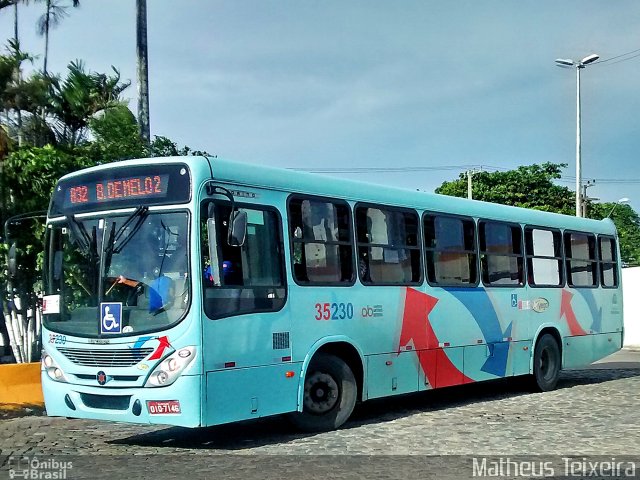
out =
<svg viewBox="0 0 640 480"><path fill-rule="evenodd" d="M353 283L351 215L346 203L292 198L289 235L296 282Z"/></svg>

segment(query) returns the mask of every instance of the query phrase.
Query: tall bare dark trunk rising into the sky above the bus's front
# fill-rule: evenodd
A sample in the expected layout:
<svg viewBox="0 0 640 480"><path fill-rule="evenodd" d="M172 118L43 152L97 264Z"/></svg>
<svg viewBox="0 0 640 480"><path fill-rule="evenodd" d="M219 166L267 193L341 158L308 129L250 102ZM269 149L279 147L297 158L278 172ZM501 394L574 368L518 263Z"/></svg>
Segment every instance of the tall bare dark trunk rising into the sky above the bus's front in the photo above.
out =
<svg viewBox="0 0 640 480"><path fill-rule="evenodd" d="M138 124L145 144L151 140L149 126L149 56L147 53L147 0L136 0L138 56Z"/></svg>

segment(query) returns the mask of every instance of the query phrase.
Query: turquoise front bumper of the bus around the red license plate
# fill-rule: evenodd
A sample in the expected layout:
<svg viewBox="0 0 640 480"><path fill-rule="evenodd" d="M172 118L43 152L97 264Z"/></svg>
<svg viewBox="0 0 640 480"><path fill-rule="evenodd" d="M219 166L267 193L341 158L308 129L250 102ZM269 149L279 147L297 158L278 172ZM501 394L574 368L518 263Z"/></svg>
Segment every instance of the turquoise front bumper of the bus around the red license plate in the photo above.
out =
<svg viewBox="0 0 640 480"><path fill-rule="evenodd" d="M185 375L172 385L157 388L105 388L56 382L41 372L47 414L115 422L201 425L202 377ZM147 401L177 400L180 413L150 414Z"/></svg>

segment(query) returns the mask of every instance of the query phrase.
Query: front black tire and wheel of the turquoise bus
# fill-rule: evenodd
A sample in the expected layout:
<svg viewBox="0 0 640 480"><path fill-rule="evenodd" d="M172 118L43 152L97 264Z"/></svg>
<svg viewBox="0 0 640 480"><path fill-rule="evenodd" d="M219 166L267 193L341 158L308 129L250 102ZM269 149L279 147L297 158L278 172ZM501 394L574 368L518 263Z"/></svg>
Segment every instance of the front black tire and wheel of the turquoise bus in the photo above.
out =
<svg viewBox="0 0 640 480"><path fill-rule="evenodd" d="M316 355L304 379L303 410L289 418L306 432L326 432L340 427L353 412L358 386L353 372L340 358Z"/></svg>

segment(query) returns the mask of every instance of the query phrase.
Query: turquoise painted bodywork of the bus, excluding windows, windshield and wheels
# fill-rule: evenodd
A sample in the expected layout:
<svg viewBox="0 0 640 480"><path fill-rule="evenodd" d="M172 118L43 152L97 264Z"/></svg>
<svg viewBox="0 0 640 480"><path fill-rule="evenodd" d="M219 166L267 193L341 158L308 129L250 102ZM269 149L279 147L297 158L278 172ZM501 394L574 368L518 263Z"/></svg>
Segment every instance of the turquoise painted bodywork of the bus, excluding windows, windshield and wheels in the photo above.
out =
<svg viewBox="0 0 640 480"><path fill-rule="evenodd" d="M121 165L126 168L147 161ZM153 361L147 359L127 367L73 364L55 344L60 336L43 328L45 343L48 338L54 340L45 345L45 350L70 379L70 383L53 381L43 371L50 415L197 426L301 411L305 373L314 355L332 345L348 345L357 352L360 364L352 365L352 370L361 370L362 400L532 373L535 343L549 328L562 339L563 368L588 365L622 346L619 245L616 288L571 288L566 282L561 287L532 287L526 280L517 288L485 286L482 281L477 286L440 287L424 278L420 284L402 286L365 286L359 278L352 284L305 286L296 282L292 272L287 201L292 194L346 201L352 225L358 202L407 207L420 219L425 213L442 212L464 215L476 224L491 219L516 223L521 228L541 225L615 237L610 221L576 219L221 159L161 161L186 162L192 174L191 200L176 206L190 212L190 310L186 318L164 332L114 338L107 344L66 336L67 348L151 346L157 352L162 347ZM241 207L270 207L278 212L286 279L286 301L280 310L217 319L205 313L201 258L207 252L201 242L201 209L210 199L226 201L207 193L206 185L212 180L232 190ZM422 220L420 224L423 230ZM357 249L354 239L352 244ZM420 248L424 272L424 245ZM143 387L163 359L187 346L196 348L197 358L175 383ZM113 377L104 386L94 380L99 370ZM116 386L120 388L112 388ZM76 410L68 406L65 395ZM130 396L130 402L123 410L93 408L82 401L82 395L104 396L105 405L109 396ZM142 405L138 415L133 413L136 400ZM179 400L181 412L151 415L147 400Z"/></svg>

